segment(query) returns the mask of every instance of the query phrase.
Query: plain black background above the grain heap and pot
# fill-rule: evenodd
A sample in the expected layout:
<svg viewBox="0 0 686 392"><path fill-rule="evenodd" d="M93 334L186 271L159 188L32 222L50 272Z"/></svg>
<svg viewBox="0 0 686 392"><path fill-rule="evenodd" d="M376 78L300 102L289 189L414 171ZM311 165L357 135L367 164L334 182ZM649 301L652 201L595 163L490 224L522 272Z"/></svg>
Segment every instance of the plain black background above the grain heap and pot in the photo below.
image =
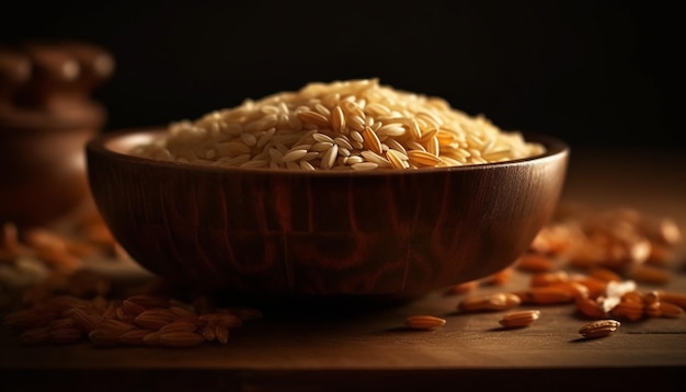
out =
<svg viewBox="0 0 686 392"><path fill-rule="evenodd" d="M501 128L574 147L683 132L678 2L103 1L16 3L0 38L107 48L106 130L196 118L310 81L379 78Z"/></svg>

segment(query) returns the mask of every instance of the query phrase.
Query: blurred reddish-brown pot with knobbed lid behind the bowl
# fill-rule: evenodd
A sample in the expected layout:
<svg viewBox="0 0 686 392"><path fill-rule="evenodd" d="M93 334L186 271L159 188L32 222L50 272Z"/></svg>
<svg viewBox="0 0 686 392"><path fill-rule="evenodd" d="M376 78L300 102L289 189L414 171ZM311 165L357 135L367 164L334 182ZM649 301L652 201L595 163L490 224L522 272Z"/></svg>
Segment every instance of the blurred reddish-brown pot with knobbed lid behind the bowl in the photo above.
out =
<svg viewBox="0 0 686 392"><path fill-rule="evenodd" d="M83 148L106 122L90 99L113 60L84 43L0 48L0 221L49 223L90 197Z"/></svg>

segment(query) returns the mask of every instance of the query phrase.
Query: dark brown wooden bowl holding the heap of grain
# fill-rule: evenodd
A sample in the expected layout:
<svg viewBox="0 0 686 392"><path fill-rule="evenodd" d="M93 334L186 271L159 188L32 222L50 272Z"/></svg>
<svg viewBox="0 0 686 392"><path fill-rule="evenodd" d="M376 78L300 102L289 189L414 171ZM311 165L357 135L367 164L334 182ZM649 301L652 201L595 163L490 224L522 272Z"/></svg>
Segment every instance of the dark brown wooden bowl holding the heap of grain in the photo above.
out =
<svg viewBox="0 0 686 392"><path fill-rule="evenodd" d="M428 170L226 169L127 153L162 131L87 145L98 208L150 272L249 296L413 296L494 274L551 217L569 155L534 135L544 155Z"/></svg>

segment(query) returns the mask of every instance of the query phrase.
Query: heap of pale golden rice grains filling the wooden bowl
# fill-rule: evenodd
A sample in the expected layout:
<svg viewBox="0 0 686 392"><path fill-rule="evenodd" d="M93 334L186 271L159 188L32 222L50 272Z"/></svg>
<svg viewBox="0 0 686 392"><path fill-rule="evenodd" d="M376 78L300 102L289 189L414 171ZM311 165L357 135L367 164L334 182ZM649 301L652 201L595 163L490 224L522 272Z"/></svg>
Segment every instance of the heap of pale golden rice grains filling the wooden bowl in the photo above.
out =
<svg viewBox="0 0 686 392"><path fill-rule="evenodd" d="M483 164L535 157L545 148L444 99L362 79L312 82L175 122L132 152L192 164L317 171Z"/></svg>

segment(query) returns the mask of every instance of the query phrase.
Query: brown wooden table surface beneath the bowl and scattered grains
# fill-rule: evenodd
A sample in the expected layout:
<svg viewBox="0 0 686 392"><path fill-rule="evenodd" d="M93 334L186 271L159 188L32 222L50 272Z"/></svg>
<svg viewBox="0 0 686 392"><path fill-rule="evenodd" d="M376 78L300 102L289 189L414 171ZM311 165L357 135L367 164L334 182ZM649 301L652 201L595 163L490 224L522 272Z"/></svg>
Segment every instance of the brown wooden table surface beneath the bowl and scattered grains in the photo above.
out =
<svg viewBox="0 0 686 392"><path fill-rule="evenodd" d="M630 206L686 228L682 152L574 151L563 201ZM677 252L686 261L684 244ZM686 263L682 263L686 264ZM507 290L527 286L515 273ZM641 287L641 286L639 286ZM663 289L686 292L675 266ZM191 349L21 346L0 332L0 390L458 391L464 388L652 391L686 384L686 318L622 322L606 338L581 339L573 305L538 307L526 328L501 330L500 313L461 314L443 291L370 307L352 301L286 303L235 331L227 345ZM435 331L402 328L405 316L447 320ZM12 387L12 388L9 388Z"/></svg>

